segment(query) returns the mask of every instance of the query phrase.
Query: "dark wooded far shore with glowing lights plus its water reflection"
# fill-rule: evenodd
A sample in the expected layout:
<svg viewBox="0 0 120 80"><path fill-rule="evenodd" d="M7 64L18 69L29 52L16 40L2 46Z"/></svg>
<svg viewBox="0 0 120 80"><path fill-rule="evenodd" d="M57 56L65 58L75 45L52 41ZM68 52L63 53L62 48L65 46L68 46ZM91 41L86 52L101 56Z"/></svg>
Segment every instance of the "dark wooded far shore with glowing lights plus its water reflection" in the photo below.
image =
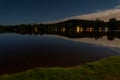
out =
<svg viewBox="0 0 120 80"><path fill-rule="evenodd" d="M70 38L95 38L107 36L108 40L120 39L120 21L115 18L104 22L99 19L69 20L55 24L20 24L0 26L0 33L17 33L21 35L56 34Z"/></svg>

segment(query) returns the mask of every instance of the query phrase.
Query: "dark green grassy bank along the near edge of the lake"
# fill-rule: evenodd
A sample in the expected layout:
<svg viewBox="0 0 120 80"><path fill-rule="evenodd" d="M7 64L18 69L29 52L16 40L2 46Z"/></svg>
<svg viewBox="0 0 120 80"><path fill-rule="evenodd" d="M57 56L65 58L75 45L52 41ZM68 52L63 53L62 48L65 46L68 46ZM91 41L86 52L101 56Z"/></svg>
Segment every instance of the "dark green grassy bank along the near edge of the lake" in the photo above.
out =
<svg viewBox="0 0 120 80"><path fill-rule="evenodd" d="M120 56L72 68L36 68L0 80L120 80Z"/></svg>

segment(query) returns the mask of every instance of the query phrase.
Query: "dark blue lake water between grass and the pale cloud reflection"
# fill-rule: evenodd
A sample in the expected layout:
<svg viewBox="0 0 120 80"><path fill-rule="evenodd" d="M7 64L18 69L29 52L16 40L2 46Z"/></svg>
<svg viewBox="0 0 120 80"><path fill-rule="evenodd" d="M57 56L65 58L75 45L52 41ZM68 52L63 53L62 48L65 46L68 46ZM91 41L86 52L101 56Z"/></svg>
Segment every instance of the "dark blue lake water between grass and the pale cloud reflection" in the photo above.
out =
<svg viewBox="0 0 120 80"><path fill-rule="evenodd" d="M0 34L0 74L35 67L70 67L119 55L108 47L55 36Z"/></svg>

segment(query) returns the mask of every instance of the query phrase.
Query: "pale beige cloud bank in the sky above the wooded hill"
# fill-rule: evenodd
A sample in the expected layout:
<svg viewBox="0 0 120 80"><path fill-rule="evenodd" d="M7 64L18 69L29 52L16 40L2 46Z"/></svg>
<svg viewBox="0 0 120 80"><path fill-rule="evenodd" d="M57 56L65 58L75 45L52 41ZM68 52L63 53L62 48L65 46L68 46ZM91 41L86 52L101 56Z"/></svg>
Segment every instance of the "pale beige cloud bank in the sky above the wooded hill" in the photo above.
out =
<svg viewBox="0 0 120 80"><path fill-rule="evenodd" d="M104 21L108 21L111 18L117 18L120 20L120 5L117 5L114 8L96 10L94 13L76 15L61 20L49 21L48 23L57 23L70 19L96 20L97 18Z"/></svg>

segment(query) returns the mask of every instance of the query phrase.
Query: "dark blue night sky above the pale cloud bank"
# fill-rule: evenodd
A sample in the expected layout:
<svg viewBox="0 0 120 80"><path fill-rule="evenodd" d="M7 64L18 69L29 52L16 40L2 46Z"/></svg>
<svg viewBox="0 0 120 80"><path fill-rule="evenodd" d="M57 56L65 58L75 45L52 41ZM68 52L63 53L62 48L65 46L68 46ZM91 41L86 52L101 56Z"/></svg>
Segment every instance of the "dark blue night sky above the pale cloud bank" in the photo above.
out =
<svg viewBox="0 0 120 80"><path fill-rule="evenodd" d="M0 25L53 21L119 5L120 0L0 0Z"/></svg>

